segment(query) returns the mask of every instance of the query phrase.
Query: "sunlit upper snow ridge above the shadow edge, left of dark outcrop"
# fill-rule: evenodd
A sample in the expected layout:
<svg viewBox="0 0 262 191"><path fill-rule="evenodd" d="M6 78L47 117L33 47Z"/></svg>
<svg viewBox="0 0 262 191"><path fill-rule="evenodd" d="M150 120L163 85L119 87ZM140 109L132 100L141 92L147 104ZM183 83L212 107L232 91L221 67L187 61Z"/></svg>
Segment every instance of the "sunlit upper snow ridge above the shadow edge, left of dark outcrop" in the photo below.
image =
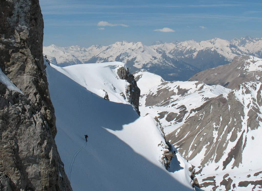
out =
<svg viewBox="0 0 262 191"><path fill-rule="evenodd" d="M122 62L78 64L63 68L51 66L102 98L107 92L110 101L127 103L120 93L125 92L128 82L117 77L117 70L125 67Z"/></svg>

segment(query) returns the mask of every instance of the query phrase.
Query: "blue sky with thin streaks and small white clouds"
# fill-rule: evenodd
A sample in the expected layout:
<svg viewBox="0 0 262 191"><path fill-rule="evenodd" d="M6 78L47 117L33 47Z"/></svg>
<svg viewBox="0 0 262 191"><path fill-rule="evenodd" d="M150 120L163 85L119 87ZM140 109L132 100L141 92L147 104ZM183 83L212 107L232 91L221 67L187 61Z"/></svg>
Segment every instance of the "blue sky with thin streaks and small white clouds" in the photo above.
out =
<svg viewBox="0 0 262 191"><path fill-rule="evenodd" d="M44 46L262 37L261 1L40 0Z"/></svg>

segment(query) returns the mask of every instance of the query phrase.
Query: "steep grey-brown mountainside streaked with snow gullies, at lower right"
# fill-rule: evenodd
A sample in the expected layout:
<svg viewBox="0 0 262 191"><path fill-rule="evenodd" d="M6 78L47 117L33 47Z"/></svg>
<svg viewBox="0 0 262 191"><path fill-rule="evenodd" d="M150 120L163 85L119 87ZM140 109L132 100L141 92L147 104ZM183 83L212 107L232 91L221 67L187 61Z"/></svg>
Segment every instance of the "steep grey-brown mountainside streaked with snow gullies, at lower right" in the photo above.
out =
<svg viewBox="0 0 262 191"><path fill-rule="evenodd" d="M204 190L237 190L249 183L254 190L261 188L257 182L261 177L253 176L262 169L261 152L254 148L262 144L261 89L261 82L245 82L206 102L198 114L167 135L185 159L199 165L196 176Z"/></svg>

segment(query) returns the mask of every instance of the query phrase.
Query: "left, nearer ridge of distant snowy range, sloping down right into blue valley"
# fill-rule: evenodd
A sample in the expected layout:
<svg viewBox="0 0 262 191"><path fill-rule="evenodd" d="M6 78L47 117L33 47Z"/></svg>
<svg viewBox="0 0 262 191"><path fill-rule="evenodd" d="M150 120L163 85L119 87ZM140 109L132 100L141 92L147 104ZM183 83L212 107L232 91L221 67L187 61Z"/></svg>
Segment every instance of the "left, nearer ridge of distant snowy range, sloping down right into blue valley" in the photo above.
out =
<svg viewBox="0 0 262 191"><path fill-rule="evenodd" d="M127 64L131 72L145 68L167 79L187 80L200 71L166 52L159 52L141 42L123 41L109 46L95 45L89 48L79 46L63 48L51 45L43 47L43 53L47 55L52 64L57 66L121 61ZM181 76L182 73L185 75Z"/></svg>

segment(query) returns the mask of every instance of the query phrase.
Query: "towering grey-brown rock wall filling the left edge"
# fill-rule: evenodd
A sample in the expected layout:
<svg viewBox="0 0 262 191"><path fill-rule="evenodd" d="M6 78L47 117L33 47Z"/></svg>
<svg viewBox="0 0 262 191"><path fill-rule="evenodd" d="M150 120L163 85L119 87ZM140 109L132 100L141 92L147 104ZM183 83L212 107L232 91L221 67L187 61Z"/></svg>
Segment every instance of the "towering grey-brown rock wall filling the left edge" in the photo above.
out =
<svg viewBox="0 0 262 191"><path fill-rule="evenodd" d="M23 92L0 83L0 188L72 190L54 141L39 0L3 0L0 13L0 67Z"/></svg>

